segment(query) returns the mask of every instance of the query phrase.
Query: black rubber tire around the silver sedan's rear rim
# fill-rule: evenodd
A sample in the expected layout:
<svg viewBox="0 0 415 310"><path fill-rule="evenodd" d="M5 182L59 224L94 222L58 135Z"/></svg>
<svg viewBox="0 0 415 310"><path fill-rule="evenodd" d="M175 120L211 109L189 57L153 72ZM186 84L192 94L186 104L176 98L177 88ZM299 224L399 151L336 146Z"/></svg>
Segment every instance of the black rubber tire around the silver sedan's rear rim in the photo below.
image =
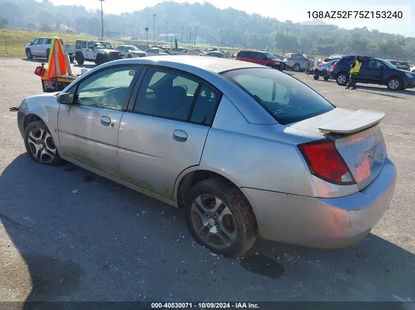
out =
<svg viewBox="0 0 415 310"><path fill-rule="evenodd" d="M220 229L223 227L223 229L220 230L222 232L224 229L228 229L225 226L229 226L229 222L232 223L230 226L233 228L235 237L233 241L230 242L230 245L225 248L212 246L210 243L207 243L203 240L201 235L205 232L204 236L206 236L206 228L208 228L208 226L205 226L205 229L200 232L200 235L196 232L195 225L197 225L196 222L198 222L198 219L200 220L201 217L197 212L192 211L192 207L194 205L195 199L203 196L211 197L211 199L214 198L213 196L217 197L223 202L218 210L220 208L227 207L231 213L231 215L227 214L228 216L222 215L223 217L219 221L216 217L215 219L213 219L213 217L210 217L209 219L209 221L212 219L218 225L221 223L221 226L218 226L217 224L215 224L215 226ZM255 240L258 236L258 226L256 223L255 215L253 214L248 199L237 187L235 187L230 182L221 178L211 178L196 183L187 194L184 207L186 222L193 238L201 245L207 246L212 252L223 255L225 257L235 258L242 256L255 243ZM221 212L224 212L224 209ZM225 216L227 217L225 218ZM221 216L218 217L221 218ZM224 224L224 222L227 222L227 224ZM199 228L201 227L202 225L200 221ZM232 231L232 229L229 231ZM222 233L222 236L223 235L225 234Z"/></svg>

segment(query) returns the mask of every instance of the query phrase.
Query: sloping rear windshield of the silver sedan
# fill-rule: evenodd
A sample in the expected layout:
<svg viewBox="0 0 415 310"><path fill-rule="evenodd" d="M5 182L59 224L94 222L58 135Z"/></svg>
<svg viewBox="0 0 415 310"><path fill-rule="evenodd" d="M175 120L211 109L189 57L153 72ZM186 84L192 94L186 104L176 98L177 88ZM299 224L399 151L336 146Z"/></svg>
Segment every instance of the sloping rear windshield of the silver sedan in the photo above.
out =
<svg viewBox="0 0 415 310"><path fill-rule="evenodd" d="M267 68L222 73L285 125L329 112L335 107L323 96L288 74Z"/></svg>

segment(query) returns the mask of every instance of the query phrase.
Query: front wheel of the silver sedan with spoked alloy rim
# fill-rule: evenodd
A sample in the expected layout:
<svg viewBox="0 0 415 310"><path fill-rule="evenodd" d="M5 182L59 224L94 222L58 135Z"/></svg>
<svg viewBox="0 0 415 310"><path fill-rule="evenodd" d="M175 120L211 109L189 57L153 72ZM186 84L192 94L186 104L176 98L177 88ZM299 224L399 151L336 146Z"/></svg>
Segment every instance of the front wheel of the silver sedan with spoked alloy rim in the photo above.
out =
<svg viewBox="0 0 415 310"><path fill-rule="evenodd" d="M39 137L37 137L37 135L39 135ZM38 138L36 141L39 143L36 143L34 138ZM42 144L42 146L38 149L35 144ZM51 135L51 132L45 123L41 120L33 121L26 127L25 147L30 158L36 163L47 166L59 166L64 163L64 161L59 156L59 152L56 149L55 141ZM46 149L47 151L42 154L43 149ZM54 157L51 155L53 152L51 153L50 150L55 151Z"/></svg>

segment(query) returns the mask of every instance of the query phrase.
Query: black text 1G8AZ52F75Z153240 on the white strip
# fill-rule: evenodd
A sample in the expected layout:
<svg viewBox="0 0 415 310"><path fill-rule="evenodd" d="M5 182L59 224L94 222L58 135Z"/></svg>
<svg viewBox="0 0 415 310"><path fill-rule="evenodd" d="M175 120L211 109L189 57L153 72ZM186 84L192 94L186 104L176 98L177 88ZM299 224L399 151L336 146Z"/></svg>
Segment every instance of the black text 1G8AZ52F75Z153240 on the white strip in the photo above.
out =
<svg viewBox="0 0 415 310"><path fill-rule="evenodd" d="M308 11L308 18L401 19L402 11Z"/></svg>

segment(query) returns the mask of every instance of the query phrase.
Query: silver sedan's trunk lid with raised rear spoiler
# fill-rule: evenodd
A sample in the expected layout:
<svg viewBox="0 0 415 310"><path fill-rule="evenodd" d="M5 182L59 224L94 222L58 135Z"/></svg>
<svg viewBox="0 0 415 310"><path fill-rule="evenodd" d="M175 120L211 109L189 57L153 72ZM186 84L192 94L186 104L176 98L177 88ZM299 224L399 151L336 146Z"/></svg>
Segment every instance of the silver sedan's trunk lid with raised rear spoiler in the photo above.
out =
<svg viewBox="0 0 415 310"><path fill-rule="evenodd" d="M287 126L334 140L361 191L378 176L387 157L379 127L384 116L377 111L336 108Z"/></svg>

